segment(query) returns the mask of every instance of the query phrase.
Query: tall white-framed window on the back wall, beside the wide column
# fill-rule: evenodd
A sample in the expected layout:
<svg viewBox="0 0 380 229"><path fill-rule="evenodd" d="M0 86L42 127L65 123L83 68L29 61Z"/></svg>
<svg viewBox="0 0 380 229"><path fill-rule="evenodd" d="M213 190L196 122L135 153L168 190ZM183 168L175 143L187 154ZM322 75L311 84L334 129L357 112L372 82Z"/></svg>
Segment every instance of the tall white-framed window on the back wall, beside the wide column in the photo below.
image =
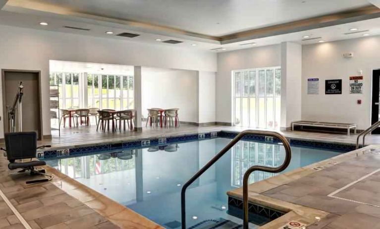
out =
<svg viewBox="0 0 380 229"><path fill-rule="evenodd" d="M234 70L232 75L234 125L279 128L281 68Z"/></svg>

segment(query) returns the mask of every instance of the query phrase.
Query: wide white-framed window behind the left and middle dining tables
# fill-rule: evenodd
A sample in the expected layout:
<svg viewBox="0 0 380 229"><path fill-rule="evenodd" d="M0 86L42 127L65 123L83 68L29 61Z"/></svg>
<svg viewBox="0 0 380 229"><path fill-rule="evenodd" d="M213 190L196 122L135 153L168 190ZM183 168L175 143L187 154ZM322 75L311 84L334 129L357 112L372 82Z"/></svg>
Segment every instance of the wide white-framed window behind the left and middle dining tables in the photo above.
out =
<svg viewBox="0 0 380 229"><path fill-rule="evenodd" d="M51 72L50 80L58 85L62 109L134 109L133 75Z"/></svg>

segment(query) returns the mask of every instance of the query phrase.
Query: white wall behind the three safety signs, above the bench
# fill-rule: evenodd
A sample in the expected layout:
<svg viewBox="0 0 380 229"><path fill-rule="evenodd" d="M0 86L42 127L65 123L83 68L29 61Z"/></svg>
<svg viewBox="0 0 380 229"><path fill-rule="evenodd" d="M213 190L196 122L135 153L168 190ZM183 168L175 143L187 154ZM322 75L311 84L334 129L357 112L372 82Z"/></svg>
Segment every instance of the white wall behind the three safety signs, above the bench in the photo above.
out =
<svg viewBox="0 0 380 229"><path fill-rule="evenodd" d="M302 119L357 123L370 126L372 70L380 68L380 37L366 37L317 45L302 50ZM342 57L353 52L354 57ZM363 94L349 94L349 76L363 70ZM307 79L319 78L319 95L307 95ZM326 79L342 79L342 95L325 95ZM357 100L362 104L358 105Z"/></svg>

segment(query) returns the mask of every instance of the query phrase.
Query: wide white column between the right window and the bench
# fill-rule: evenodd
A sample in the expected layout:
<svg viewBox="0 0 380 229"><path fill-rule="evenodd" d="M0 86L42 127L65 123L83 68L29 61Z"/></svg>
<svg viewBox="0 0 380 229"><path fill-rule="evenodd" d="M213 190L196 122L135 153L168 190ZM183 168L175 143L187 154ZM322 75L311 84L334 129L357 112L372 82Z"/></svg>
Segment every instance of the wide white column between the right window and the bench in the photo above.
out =
<svg viewBox="0 0 380 229"><path fill-rule="evenodd" d="M301 120L302 46L281 43L281 130Z"/></svg>

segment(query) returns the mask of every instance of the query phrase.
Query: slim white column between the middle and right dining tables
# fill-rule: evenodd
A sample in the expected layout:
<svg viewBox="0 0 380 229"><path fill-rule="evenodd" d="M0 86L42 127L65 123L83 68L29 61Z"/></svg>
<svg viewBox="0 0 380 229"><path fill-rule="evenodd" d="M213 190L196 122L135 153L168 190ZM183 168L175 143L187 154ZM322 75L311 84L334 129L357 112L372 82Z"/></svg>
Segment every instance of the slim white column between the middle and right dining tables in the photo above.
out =
<svg viewBox="0 0 380 229"><path fill-rule="evenodd" d="M134 101L135 101L135 131L141 131L141 112L142 112L142 82L141 66L134 66Z"/></svg>

